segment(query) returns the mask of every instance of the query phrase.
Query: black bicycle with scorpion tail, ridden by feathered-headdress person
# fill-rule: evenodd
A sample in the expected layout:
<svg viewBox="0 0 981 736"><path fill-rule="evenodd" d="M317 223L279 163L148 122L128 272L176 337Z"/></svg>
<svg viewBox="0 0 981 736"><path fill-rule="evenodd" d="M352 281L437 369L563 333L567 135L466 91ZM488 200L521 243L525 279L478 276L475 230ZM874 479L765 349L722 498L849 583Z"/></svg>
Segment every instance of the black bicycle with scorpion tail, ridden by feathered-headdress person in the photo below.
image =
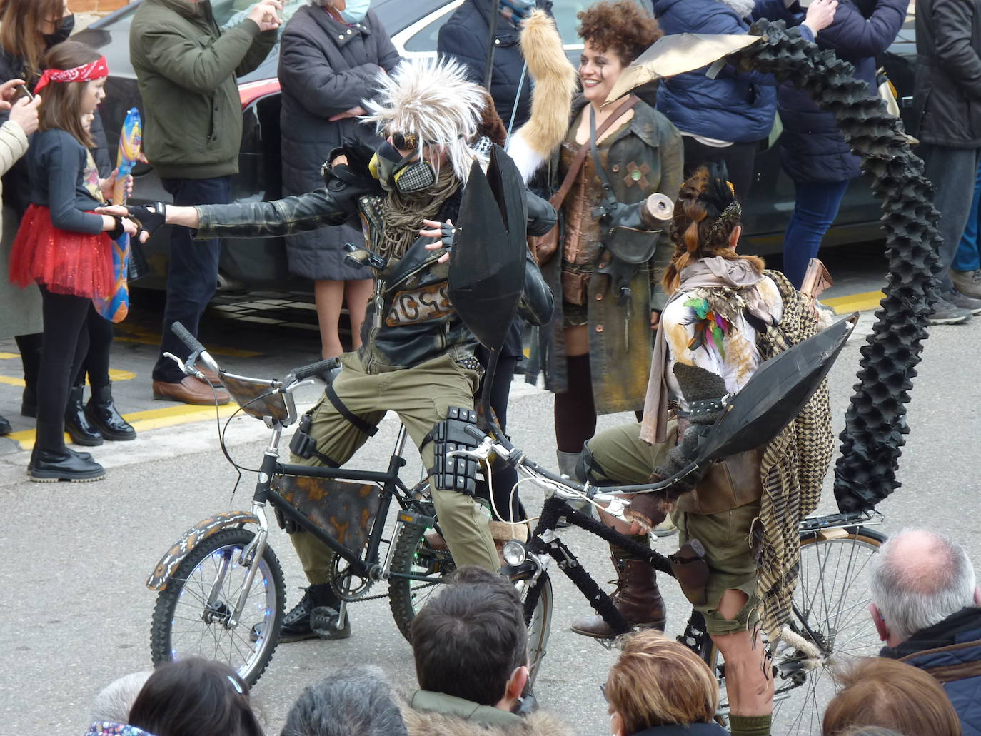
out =
<svg viewBox="0 0 981 736"><path fill-rule="evenodd" d="M491 454L516 465L526 480L547 486L553 495L545 499L538 525L529 541L517 540L504 546L507 563L501 572L522 575L531 581L525 599L525 615L532 612L545 620L552 605L550 580L546 599L537 598L535 581L547 579L551 562L573 582L596 611L617 632L629 633L631 625L623 618L583 568L575 553L556 534L559 517L626 549L647 558L660 572L671 575L668 559L637 545L599 521L567 503L588 499L622 520L627 501L621 494L638 493L650 486L621 486L597 489L581 485L564 476L543 469L527 458L520 449L504 439L480 433L478 447L468 451L478 458ZM477 439L478 432L473 436ZM875 655L881 646L875 627L866 612L867 590L864 571L871 556L878 552L886 537L870 525L880 524L882 515L875 511L854 511L804 519L799 525L800 582L795 592L789 631L773 650L772 672L776 681L774 693L775 732L816 733L820 730L824 706L834 695L834 669L850 657ZM543 609L542 609L543 608ZM610 648L615 639L597 639ZM713 670L721 691L717 716L724 720L729 712L725 690L725 664L705 631L704 620L693 609L678 641L691 648ZM777 726L777 723L780 723ZM816 730L815 730L816 729Z"/></svg>

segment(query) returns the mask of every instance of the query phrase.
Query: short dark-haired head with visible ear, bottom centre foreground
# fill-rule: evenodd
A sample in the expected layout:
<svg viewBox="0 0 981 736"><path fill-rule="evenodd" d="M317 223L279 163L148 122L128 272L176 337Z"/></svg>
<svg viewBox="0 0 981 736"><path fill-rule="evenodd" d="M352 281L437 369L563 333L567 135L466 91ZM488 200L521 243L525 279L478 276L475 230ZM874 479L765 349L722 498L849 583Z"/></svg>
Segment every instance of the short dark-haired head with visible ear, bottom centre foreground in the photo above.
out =
<svg viewBox="0 0 981 736"><path fill-rule="evenodd" d="M511 710L528 681L528 630L514 586L468 565L412 620L422 690Z"/></svg>

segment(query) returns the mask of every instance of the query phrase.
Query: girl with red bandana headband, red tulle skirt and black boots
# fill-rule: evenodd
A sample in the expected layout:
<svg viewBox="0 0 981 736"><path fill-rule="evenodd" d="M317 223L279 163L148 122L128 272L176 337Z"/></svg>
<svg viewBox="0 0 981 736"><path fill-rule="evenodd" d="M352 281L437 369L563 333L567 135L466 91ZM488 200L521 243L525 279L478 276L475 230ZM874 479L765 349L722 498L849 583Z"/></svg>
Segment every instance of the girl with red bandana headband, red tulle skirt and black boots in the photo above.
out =
<svg viewBox="0 0 981 736"><path fill-rule="evenodd" d="M30 201L10 259L10 280L41 290L44 330L37 378L37 439L28 474L32 481L93 481L105 476L88 453L65 447L65 405L88 347L83 329L93 297L115 289L109 237L135 235L126 218L93 210L109 196L115 176L100 180L88 151L84 118L105 97L104 57L65 41L45 56L38 80L40 124L27 151Z"/></svg>

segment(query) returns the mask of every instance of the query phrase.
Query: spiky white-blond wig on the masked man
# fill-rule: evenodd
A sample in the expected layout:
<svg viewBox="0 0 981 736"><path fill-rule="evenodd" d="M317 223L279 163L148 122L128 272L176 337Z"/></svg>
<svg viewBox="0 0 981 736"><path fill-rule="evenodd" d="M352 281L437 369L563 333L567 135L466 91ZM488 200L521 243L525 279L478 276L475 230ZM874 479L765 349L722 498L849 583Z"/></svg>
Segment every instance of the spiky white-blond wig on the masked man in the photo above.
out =
<svg viewBox="0 0 981 736"><path fill-rule="evenodd" d="M374 99L365 100L382 137L390 132L414 135L420 154L424 146L440 145L453 172L467 181L474 159L487 159L467 145L477 132L486 103L484 87L467 80L463 66L453 59L415 58L403 61L390 75L380 74Z"/></svg>

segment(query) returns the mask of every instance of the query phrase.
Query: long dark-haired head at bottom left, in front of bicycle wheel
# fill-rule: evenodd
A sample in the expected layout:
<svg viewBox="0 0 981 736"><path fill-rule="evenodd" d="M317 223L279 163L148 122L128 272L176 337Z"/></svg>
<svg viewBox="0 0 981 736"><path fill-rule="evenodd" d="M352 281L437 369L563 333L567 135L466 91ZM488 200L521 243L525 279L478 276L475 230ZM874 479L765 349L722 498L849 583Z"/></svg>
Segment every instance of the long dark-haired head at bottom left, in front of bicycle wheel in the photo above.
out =
<svg viewBox="0 0 981 736"><path fill-rule="evenodd" d="M154 736L263 736L248 685L227 664L200 657L157 667L129 724Z"/></svg>

